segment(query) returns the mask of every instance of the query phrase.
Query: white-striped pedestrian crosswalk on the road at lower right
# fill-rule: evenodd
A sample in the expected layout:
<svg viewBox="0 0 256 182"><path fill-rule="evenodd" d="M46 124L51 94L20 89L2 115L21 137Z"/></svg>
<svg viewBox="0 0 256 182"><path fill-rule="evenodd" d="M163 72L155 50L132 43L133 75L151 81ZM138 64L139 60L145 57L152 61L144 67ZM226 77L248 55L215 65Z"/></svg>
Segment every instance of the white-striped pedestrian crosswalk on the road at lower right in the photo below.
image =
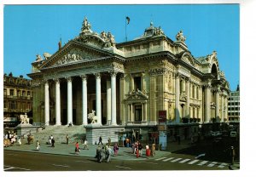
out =
<svg viewBox="0 0 256 182"><path fill-rule="evenodd" d="M217 167L217 168L225 168L228 167L228 163L224 162L211 162L211 161L203 161L199 159L189 159L189 158L180 158L180 157L160 157L154 159L154 161L161 161L161 162L178 162L178 163L186 163L189 165L198 165L198 166L207 166L209 168Z"/></svg>

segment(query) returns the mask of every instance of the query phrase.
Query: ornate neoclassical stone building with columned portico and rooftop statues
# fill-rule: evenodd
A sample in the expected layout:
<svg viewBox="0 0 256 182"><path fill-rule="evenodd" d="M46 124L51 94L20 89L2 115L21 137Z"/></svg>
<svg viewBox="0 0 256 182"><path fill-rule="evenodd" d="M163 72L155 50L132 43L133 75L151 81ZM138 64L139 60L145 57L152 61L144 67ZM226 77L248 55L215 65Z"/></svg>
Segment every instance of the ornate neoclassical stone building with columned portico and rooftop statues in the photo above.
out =
<svg viewBox="0 0 256 182"><path fill-rule="evenodd" d="M176 41L153 23L143 36L115 43L84 18L78 37L32 63L33 121L87 125L96 111L102 125L156 126L224 122L229 82L217 52L195 58L183 31Z"/></svg>

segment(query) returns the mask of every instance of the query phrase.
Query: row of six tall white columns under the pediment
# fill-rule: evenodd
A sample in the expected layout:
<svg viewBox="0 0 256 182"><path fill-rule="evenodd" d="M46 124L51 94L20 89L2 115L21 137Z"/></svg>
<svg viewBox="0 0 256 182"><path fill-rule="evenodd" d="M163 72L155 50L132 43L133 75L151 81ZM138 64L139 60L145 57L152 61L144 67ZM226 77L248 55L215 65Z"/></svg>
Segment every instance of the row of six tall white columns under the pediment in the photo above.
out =
<svg viewBox="0 0 256 182"><path fill-rule="evenodd" d="M108 112L108 119L111 120L111 125L117 125L116 121L116 75L117 72L110 72L111 74L111 98L108 100L111 113ZM101 89L101 73L94 74L96 77L96 117L97 122L102 125L102 89ZM83 113L83 125L87 125L87 75L81 75L82 79L82 113ZM67 80L67 124L73 124L73 77L65 77ZM60 78L54 79L55 81L55 125L61 125L61 87ZM109 90L108 89L108 90ZM108 96L109 97L109 94ZM111 102L109 102L111 100ZM109 116L110 115L110 116ZM45 125L49 125L49 80L44 80L44 122Z"/></svg>

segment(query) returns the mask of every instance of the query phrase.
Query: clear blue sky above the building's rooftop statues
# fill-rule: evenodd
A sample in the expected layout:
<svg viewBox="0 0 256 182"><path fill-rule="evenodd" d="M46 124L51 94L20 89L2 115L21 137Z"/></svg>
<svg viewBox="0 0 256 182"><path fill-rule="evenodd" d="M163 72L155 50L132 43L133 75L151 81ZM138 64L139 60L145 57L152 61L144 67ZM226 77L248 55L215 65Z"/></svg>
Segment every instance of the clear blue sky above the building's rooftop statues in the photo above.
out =
<svg viewBox="0 0 256 182"><path fill-rule="evenodd" d="M194 57L218 53L220 70L236 90L240 81L240 7L211 5L5 5L3 8L3 72L14 76L31 73L36 54L54 54L58 41L67 43L79 35L86 16L91 29L111 31L117 43L143 35L152 20L175 40L183 30Z"/></svg>

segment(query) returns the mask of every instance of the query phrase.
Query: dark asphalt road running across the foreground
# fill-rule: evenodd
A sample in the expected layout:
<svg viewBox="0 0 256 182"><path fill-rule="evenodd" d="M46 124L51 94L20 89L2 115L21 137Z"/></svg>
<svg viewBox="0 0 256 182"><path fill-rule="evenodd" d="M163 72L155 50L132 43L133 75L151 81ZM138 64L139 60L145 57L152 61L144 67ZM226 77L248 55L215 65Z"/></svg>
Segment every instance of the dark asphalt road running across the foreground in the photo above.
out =
<svg viewBox="0 0 256 182"><path fill-rule="evenodd" d="M3 168L10 171L144 171L144 170L223 170L217 165L191 164L188 160L195 160L195 156L170 154L162 159L145 159L111 162L96 162L95 158L84 156L61 156L43 153L31 153L23 151L4 151ZM171 158L180 159L179 161ZM114 158L114 156L113 156Z"/></svg>

